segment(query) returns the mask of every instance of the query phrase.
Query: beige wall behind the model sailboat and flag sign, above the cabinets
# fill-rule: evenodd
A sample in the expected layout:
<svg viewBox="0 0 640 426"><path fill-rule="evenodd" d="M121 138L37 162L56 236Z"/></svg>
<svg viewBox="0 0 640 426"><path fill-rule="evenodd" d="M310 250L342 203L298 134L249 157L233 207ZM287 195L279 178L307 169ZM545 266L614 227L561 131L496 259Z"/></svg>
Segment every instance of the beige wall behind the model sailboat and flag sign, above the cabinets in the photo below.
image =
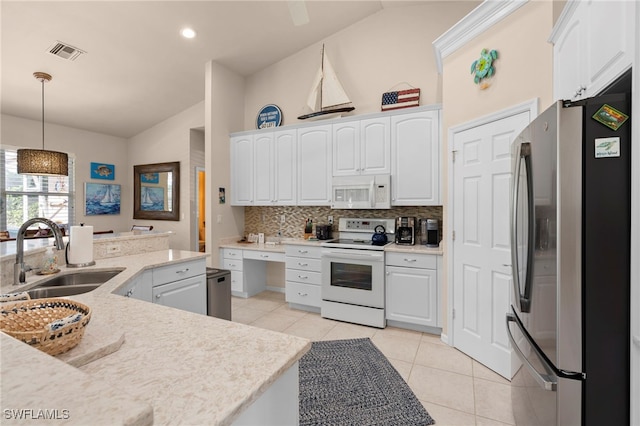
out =
<svg viewBox="0 0 640 426"><path fill-rule="evenodd" d="M306 107L311 83L325 44L338 77L356 107L352 115L380 111L382 93L421 89L422 105L441 101L439 76L431 42L480 2L428 1L383 9L320 43L247 78L244 127L255 129L256 114L266 104L282 110L283 124Z"/></svg>

